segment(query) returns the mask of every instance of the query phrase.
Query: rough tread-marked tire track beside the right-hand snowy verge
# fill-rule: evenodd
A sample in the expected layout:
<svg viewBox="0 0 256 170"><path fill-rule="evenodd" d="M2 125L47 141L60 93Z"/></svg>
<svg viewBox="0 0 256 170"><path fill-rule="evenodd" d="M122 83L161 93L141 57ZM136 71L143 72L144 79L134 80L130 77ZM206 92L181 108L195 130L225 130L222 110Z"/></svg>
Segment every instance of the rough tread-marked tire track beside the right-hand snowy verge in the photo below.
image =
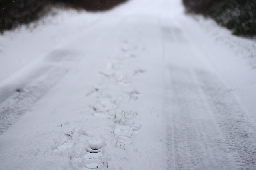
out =
<svg viewBox="0 0 256 170"><path fill-rule="evenodd" d="M224 135L225 152L232 153L237 168L255 169L256 127L252 119L217 76L202 70L196 71L196 75Z"/></svg>

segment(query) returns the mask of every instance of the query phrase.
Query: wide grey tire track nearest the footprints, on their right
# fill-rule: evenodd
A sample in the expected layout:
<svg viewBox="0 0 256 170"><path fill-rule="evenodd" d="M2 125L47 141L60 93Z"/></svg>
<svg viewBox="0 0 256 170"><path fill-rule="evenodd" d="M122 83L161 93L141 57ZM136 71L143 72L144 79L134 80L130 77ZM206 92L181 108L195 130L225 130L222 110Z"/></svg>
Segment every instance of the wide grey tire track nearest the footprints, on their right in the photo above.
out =
<svg viewBox="0 0 256 170"><path fill-rule="evenodd" d="M172 66L167 89L170 107L167 118L167 145L173 169L234 168L230 153L225 152L224 140L200 92L193 72ZM170 124L171 123L171 124ZM169 141L172 139L172 141ZM170 150L170 147L172 149Z"/></svg>

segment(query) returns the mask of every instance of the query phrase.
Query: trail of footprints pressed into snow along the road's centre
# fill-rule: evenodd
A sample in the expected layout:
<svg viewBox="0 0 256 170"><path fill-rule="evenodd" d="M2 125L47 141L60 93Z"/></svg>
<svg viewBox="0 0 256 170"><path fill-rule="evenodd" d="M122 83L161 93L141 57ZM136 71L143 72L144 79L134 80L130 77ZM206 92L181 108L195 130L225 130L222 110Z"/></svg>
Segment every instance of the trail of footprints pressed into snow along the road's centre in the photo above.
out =
<svg viewBox="0 0 256 170"><path fill-rule="evenodd" d="M124 45L127 44L128 42L125 41ZM92 88L86 94L86 96L94 98L93 101L96 101L88 106L95 117L113 120L113 126L109 127L109 136L112 137L115 143L110 145L114 145L114 147L124 151L132 145L132 135L140 129L140 122L136 122L134 119L137 116L137 112L120 108L122 102L136 101L141 95L137 90L127 90L131 89L130 82L132 81L132 76L146 72L146 70L142 69L130 70L126 68L129 59L132 60L136 57L134 53L129 54L129 50L136 49L137 47L132 49L122 47L121 51L122 53L127 53L126 57L110 57L110 63L106 66L106 72L100 72L103 77L111 82L110 85L102 85L106 81L102 80L102 83L99 83L97 87ZM115 88L118 87L121 88L116 92ZM65 123L63 126L70 128L70 123ZM88 140L97 142L90 143ZM70 168L114 169L108 162L111 158L109 158L107 153L104 153L105 146L106 142L104 139L95 140L84 129L73 129L65 134L59 145L53 145L52 150L59 153L68 153L70 156Z"/></svg>

